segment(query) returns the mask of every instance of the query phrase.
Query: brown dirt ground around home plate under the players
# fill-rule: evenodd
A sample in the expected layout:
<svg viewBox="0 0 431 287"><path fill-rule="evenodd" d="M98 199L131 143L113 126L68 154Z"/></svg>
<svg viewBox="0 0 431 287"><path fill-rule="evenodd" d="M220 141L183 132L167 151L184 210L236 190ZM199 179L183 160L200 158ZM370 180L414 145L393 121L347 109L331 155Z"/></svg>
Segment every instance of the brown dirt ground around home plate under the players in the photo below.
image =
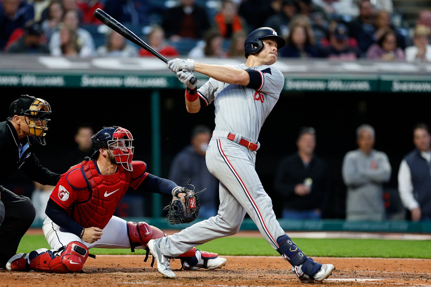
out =
<svg viewBox="0 0 431 287"><path fill-rule="evenodd" d="M151 256L102 256L89 258L82 273L48 274L36 271L12 272L0 269L0 286L214 286L260 287L301 286L281 257L225 256L228 264L218 270L175 271L180 261L171 262L176 280L164 279L150 267ZM322 286L420 286L431 287L431 259L365 259L319 257L336 270ZM154 265L156 267L156 263ZM307 286L307 285L306 285Z"/></svg>

